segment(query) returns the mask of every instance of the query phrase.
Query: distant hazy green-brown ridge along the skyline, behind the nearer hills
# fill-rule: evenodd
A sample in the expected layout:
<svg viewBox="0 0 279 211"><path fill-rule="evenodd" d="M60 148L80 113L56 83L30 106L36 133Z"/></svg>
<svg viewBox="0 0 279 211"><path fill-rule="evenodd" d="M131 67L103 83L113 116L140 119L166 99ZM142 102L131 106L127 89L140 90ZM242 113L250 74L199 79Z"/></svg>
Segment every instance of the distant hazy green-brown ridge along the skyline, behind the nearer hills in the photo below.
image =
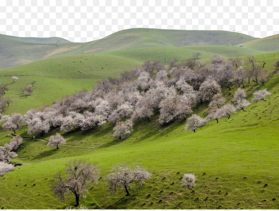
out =
<svg viewBox="0 0 279 211"><path fill-rule="evenodd" d="M225 45L256 40L251 36L207 30L126 29L87 43L70 43L62 38L16 38L0 35L0 68L65 55L110 52L150 47Z"/></svg>

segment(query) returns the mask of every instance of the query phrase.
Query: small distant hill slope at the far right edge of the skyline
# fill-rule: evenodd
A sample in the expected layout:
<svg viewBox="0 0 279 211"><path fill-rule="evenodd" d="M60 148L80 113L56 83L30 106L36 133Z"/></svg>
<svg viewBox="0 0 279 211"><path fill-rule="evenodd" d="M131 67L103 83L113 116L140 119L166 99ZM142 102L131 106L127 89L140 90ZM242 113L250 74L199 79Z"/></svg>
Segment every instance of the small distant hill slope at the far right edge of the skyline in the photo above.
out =
<svg viewBox="0 0 279 211"><path fill-rule="evenodd" d="M253 40L247 43L242 43L239 45L243 45L244 47L263 52L279 51L279 34Z"/></svg>

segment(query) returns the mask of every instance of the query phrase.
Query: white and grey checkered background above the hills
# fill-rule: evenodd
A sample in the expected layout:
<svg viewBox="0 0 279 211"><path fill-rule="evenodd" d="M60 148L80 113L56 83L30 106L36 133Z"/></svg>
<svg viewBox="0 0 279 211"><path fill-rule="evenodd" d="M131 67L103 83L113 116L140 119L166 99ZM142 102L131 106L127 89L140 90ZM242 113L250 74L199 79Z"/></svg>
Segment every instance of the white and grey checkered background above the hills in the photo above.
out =
<svg viewBox="0 0 279 211"><path fill-rule="evenodd" d="M88 42L122 29L279 34L278 0L0 0L0 34Z"/></svg>

